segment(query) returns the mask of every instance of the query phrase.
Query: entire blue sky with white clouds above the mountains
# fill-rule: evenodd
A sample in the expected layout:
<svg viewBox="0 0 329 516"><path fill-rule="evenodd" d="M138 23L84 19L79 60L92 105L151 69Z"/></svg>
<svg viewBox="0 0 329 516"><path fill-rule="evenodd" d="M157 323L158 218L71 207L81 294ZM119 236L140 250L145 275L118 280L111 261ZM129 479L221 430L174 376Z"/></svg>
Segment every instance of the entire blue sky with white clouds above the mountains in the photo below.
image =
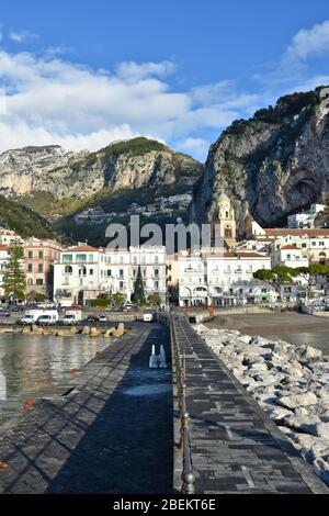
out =
<svg viewBox="0 0 329 516"><path fill-rule="evenodd" d="M328 0L2 0L0 152L147 136L204 161L236 119L329 85Z"/></svg>

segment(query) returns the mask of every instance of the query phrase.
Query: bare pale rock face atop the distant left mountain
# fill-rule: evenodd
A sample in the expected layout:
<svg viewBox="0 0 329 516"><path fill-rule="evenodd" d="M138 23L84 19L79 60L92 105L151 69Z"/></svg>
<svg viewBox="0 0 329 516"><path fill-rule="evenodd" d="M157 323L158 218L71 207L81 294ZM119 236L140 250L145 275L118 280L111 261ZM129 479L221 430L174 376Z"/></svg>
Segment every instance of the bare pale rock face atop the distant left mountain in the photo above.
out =
<svg viewBox="0 0 329 516"><path fill-rule="evenodd" d="M20 197L44 191L56 199L84 199L103 188L174 183L192 188L202 169L191 157L147 138L114 143L97 153L26 147L1 154L0 193Z"/></svg>

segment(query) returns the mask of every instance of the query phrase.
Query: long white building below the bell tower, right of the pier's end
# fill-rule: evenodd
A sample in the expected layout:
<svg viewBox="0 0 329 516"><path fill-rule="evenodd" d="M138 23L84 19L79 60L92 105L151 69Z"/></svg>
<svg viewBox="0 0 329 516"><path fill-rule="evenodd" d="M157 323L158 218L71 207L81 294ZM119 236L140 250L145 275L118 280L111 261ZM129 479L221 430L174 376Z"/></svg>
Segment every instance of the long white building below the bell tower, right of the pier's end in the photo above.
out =
<svg viewBox="0 0 329 516"><path fill-rule="evenodd" d="M271 257L259 253L180 254L180 306L222 306L275 300L270 285L253 279L260 269L271 269Z"/></svg>

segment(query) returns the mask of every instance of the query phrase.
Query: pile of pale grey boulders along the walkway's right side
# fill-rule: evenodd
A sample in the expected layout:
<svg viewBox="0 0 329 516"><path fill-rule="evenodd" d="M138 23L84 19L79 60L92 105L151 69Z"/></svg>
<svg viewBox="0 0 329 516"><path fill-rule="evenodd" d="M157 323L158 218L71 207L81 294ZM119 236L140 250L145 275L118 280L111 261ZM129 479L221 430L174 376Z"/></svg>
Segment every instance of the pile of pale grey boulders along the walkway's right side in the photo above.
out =
<svg viewBox="0 0 329 516"><path fill-rule="evenodd" d="M329 485L329 360L310 346L195 327Z"/></svg>

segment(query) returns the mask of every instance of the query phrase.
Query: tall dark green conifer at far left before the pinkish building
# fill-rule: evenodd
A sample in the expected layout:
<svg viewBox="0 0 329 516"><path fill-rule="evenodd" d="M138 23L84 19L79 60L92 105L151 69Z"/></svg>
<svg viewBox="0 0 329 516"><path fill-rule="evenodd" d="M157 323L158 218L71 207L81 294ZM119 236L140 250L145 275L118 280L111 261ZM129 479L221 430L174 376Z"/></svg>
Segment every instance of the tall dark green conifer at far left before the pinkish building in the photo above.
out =
<svg viewBox="0 0 329 516"><path fill-rule="evenodd" d="M7 298L13 301L25 296L26 279L22 260L24 249L20 240L13 240L9 246L9 261L3 276L3 290Z"/></svg>

